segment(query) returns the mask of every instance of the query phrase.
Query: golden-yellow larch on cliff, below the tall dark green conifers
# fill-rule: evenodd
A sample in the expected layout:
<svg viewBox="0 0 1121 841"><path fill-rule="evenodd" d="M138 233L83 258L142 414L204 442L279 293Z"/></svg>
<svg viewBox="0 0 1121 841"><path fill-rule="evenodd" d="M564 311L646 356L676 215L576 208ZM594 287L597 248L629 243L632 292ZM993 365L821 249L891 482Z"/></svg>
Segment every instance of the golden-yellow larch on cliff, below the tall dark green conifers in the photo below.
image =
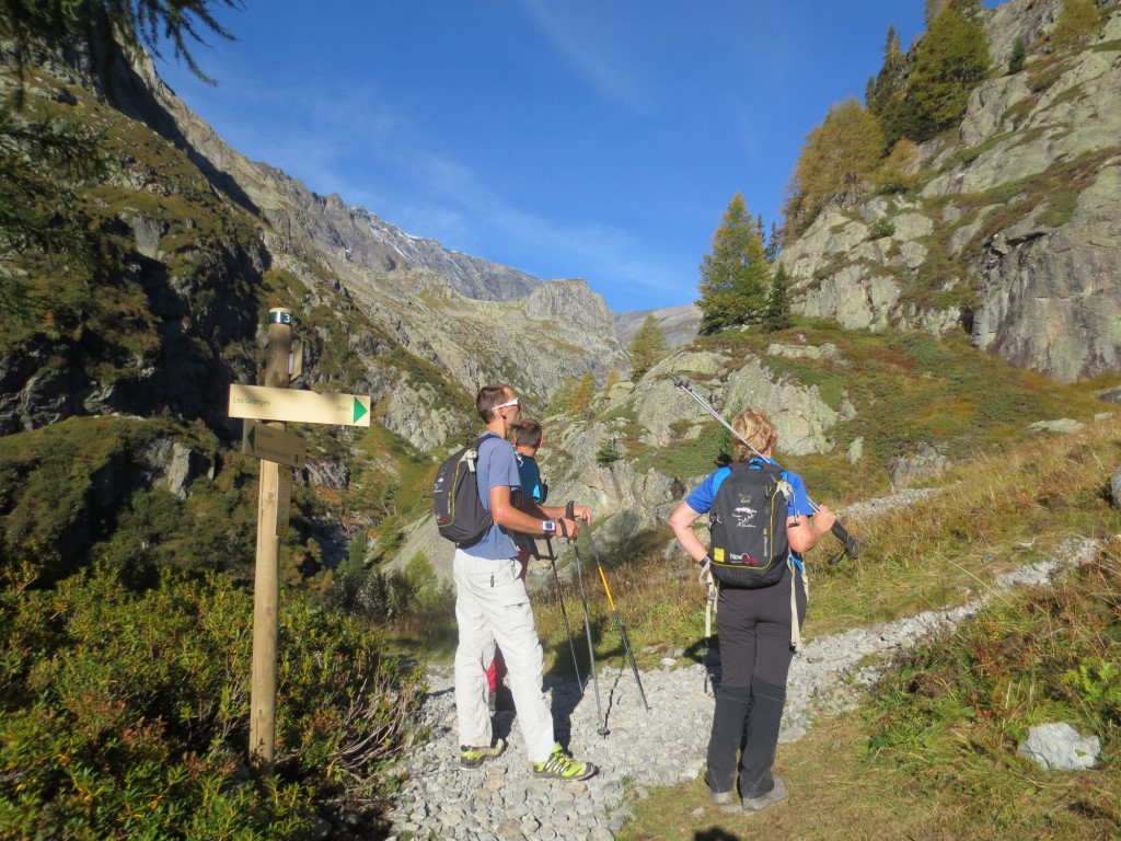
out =
<svg viewBox="0 0 1121 841"><path fill-rule="evenodd" d="M833 105L802 147L782 206L785 233L805 231L822 207L871 174L882 154L883 135L876 114L852 98Z"/></svg>

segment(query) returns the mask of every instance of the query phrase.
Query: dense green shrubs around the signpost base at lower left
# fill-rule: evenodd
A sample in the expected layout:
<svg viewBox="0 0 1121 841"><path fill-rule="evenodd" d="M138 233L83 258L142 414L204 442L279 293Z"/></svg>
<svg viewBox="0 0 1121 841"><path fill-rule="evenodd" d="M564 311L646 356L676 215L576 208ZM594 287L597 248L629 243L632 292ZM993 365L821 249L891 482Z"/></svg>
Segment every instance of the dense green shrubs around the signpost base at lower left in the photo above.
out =
<svg viewBox="0 0 1121 841"><path fill-rule="evenodd" d="M0 592L0 837L306 837L374 821L414 675L351 619L285 593L275 775L245 763L252 598L222 576L133 593L100 566Z"/></svg>

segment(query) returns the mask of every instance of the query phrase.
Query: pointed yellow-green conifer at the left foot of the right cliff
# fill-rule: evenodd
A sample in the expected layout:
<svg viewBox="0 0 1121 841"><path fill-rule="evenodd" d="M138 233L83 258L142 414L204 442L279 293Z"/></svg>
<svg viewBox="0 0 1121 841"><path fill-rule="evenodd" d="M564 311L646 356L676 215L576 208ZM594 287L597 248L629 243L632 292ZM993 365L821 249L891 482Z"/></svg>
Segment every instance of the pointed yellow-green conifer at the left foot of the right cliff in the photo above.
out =
<svg viewBox="0 0 1121 841"><path fill-rule="evenodd" d="M756 322L767 305L770 270L759 225L736 193L701 262L701 334Z"/></svg>

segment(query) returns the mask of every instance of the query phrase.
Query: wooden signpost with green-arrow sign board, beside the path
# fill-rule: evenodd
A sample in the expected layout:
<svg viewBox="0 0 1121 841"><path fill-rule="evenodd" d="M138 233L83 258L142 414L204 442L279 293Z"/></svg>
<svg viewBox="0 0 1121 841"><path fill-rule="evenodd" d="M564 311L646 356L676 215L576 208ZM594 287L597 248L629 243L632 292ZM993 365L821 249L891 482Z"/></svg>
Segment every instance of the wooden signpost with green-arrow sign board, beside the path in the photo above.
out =
<svg viewBox="0 0 1121 841"><path fill-rule="evenodd" d="M271 767L276 755L277 639L280 601L280 542L291 514L291 470L307 461L307 443L285 432L285 422L370 425L370 398L289 390L302 354L293 354L291 311L274 307L263 386L230 386L230 417L245 419L242 452L261 460L257 506L257 567L253 581L253 664L250 687L249 756ZM262 423L263 422L263 423ZM286 465L284 471L280 464Z"/></svg>

